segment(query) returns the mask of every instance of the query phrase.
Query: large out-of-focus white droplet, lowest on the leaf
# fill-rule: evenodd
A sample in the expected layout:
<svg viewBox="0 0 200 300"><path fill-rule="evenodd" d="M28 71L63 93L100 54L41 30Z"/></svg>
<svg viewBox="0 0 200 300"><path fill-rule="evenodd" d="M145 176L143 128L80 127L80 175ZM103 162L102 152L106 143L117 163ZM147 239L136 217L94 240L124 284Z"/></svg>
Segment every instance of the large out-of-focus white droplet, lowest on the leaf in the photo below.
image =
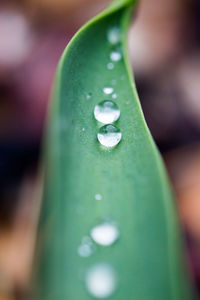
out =
<svg viewBox="0 0 200 300"><path fill-rule="evenodd" d="M116 289L116 274L108 264L97 264L91 267L86 276L89 293L99 299L111 296Z"/></svg>

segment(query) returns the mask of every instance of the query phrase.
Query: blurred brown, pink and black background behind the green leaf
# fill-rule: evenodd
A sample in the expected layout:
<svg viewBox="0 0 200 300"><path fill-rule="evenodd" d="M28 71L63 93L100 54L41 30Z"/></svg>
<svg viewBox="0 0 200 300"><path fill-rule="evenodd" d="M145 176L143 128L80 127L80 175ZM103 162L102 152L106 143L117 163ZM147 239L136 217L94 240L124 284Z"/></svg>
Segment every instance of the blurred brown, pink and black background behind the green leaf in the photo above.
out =
<svg viewBox="0 0 200 300"><path fill-rule="evenodd" d="M56 65L76 30L108 2L0 1L0 300L26 299ZM200 1L141 0L133 21L136 84L175 190L200 294Z"/></svg>

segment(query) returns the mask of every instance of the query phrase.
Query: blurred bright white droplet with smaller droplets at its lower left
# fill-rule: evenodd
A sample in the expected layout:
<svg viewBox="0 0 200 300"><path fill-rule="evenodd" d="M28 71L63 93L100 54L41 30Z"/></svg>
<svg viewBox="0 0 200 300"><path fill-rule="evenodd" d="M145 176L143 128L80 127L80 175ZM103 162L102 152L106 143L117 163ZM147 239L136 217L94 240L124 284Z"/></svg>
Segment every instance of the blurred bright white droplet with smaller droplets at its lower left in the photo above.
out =
<svg viewBox="0 0 200 300"><path fill-rule="evenodd" d="M105 222L95 226L91 230L90 235L97 244L110 246L118 239L119 231L115 224Z"/></svg>

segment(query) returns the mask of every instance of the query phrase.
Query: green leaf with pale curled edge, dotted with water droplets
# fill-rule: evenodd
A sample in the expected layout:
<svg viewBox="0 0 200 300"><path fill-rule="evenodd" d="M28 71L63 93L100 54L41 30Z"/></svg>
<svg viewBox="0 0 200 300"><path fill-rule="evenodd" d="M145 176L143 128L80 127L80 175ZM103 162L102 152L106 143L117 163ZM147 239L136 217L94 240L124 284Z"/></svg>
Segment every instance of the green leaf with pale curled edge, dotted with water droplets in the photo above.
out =
<svg viewBox="0 0 200 300"><path fill-rule="evenodd" d="M34 300L191 299L174 200L127 56L133 7L134 1L115 1L80 29L60 60L44 153ZM116 49L122 59L108 69ZM117 98L105 95L105 87ZM101 125L93 115L103 100L121 112L122 140L109 149L97 140ZM99 244L91 235L102 223L111 231L100 231ZM111 245L101 245L105 234ZM96 282L102 270L106 281Z"/></svg>

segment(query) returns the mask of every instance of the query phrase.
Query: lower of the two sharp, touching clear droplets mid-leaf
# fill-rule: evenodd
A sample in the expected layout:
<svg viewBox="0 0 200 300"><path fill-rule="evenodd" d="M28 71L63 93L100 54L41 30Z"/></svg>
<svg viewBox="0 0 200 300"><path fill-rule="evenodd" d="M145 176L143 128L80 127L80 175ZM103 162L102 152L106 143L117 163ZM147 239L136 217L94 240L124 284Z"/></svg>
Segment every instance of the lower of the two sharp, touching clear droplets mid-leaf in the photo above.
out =
<svg viewBox="0 0 200 300"><path fill-rule="evenodd" d="M112 148L121 141L122 133L116 126L108 124L99 129L97 138L101 145Z"/></svg>

